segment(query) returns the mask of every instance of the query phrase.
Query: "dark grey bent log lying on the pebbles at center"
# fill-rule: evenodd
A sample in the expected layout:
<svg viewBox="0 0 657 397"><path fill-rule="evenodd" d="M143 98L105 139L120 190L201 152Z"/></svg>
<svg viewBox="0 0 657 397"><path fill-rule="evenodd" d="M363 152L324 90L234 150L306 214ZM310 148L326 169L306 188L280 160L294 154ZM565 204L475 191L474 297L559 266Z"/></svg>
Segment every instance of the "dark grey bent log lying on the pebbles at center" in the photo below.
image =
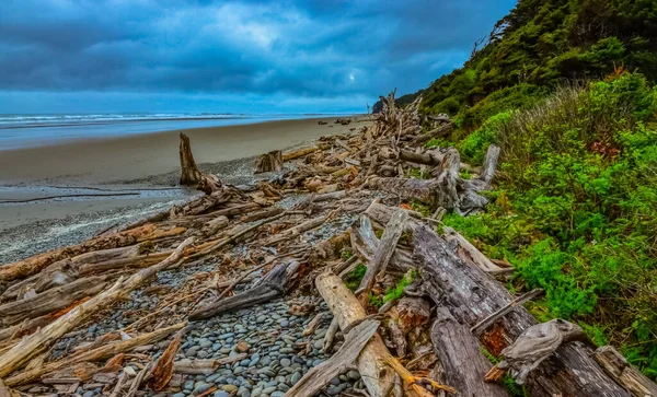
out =
<svg viewBox="0 0 657 397"><path fill-rule="evenodd" d="M210 318L227 312L251 307L281 296L289 288L289 282L298 268L299 262L295 260L278 265L269 270L261 282L252 289L234 296L210 303L205 307L200 307L189 315L189 319L197 320Z"/></svg>

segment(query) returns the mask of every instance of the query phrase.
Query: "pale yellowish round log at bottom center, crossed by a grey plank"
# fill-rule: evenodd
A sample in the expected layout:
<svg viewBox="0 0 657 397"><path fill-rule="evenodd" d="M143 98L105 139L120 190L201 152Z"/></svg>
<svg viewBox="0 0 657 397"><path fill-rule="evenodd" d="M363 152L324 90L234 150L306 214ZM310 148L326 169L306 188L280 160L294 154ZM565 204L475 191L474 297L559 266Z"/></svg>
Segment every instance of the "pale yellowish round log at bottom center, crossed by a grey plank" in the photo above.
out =
<svg viewBox="0 0 657 397"><path fill-rule="evenodd" d="M343 331L366 319L365 310L339 277L330 271L324 272L315 279L315 285ZM430 383L434 387L453 392L450 387L413 376L390 354L378 334L374 334L362 349L356 364L371 397L401 397L404 392L406 396L429 396L417 382Z"/></svg>

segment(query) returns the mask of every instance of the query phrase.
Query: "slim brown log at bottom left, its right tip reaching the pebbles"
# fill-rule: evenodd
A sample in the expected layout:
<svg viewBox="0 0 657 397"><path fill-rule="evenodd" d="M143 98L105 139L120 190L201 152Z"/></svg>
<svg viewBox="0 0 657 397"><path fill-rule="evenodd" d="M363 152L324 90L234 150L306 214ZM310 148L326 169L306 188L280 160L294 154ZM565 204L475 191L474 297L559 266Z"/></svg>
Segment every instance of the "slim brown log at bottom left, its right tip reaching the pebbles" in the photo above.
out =
<svg viewBox="0 0 657 397"><path fill-rule="evenodd" d="M175 324L165 328L157 329L149 334L142 334L127 340L120 340L113 343L107 343L99 348L76 353L66 359L49 362L45 365L23 371L12 377L7 378L7 384L12 386L23 385L33 381L38 380L43 374L55 372L59 369L71 366L80 362L91 362L106 360L127 351L130 351L137 347L158 342L171 334L184 328L186 323Z"/></svg>

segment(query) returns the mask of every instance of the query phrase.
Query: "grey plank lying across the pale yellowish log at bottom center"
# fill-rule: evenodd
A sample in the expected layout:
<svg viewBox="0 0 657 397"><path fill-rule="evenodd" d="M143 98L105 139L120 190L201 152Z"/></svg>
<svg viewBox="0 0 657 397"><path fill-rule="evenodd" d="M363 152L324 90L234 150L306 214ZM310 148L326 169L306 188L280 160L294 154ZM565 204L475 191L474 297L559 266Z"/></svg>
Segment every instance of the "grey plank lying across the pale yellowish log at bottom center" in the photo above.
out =
<svg viewBox="0 0 657 397"><path fill-rule="evenodd" d="M307 397L320 392L326 384L343 371L353 365L367 342L377 334L379 322L365 320L356 326L345 338L345 343L337 353L318 366L312 367L303 375L286 397Z"/></svg>

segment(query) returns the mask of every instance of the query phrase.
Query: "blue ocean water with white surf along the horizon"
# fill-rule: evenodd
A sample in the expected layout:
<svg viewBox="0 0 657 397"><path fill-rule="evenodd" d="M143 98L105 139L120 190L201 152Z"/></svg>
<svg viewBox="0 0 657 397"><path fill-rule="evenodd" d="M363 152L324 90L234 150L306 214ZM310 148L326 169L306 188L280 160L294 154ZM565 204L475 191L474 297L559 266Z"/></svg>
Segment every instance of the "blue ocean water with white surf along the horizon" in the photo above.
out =
<svg viewBox="0 0 657 397"><path fill-rule="evenodd" d="M176 129L234 126L339 115L318 114L70 114L0 115L0 151Z"/></svg>

